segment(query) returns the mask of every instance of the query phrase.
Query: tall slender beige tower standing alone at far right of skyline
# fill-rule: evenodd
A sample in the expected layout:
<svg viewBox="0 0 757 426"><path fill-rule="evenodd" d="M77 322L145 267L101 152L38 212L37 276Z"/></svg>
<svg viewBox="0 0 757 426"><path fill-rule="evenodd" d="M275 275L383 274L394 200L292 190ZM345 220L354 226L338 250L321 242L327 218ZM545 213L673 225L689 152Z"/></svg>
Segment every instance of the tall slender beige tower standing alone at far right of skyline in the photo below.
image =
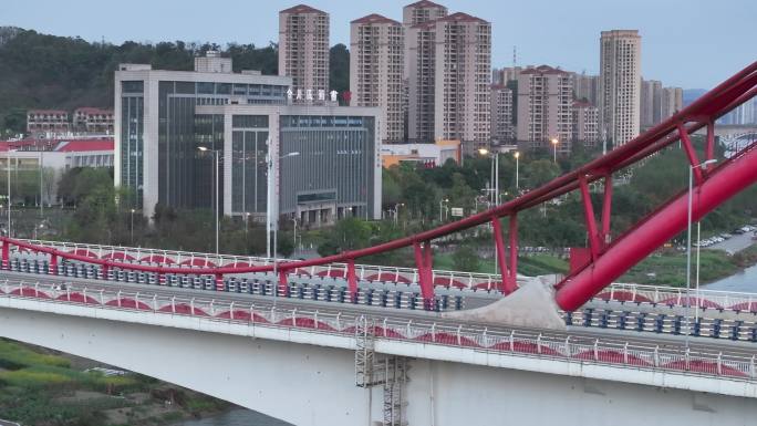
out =
<svg viewBox="0 0 757 426"><path fill-rule="evenodd" d="M600 125L615 146L639 135L641 35L636 30L602 31L600 39Z"/></svg>

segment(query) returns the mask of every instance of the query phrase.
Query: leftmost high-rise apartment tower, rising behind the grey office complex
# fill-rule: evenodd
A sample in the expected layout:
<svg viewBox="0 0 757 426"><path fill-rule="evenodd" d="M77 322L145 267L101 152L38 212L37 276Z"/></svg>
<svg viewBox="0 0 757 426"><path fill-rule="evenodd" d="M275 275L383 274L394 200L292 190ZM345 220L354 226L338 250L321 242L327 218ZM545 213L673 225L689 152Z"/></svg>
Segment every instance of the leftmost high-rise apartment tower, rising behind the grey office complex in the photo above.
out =
<svg viewBox="0 0 757 426"><path fill-rule="evenodd" d="M329 92L329 13L305 4L279 12L279 75L292 77L297 98Z"/></svg>

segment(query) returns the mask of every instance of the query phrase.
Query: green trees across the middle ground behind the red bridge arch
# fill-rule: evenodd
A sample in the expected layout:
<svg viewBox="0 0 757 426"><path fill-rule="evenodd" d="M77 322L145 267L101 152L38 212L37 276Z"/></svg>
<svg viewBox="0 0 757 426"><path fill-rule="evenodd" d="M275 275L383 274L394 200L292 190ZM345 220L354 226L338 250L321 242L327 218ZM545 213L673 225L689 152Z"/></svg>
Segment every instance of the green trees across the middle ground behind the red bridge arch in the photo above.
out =
<svg viewBox="0 0 757 426"><path fill-rule="evenodd" d="M519 164L520 189L535 188L574 167L575 163L585 162L581 156L592 155L595 153L580 152L575 158L563 158L556 164L549 158L549 153L523 154ZM514 162L511 155L502 155L500 158L500 188L506 199L516 196ZM628 229L664 200L684 189L687 173L686 156L678 147L671 147L635 167L631 177L620 181L614 189L613 235ZM321 256L328 256L419 232L439 225L439 207L462 207L466 216L476 208L487 208L485 189L489 177L488 158L466 158L463 165L448 162L442 167L431 169L411 164L393 166L383 173L383 205L387 212L385 219L366 221L346 218L331 228L301 230L300 237L304 246L317 249ZM599 211L602 187L594 189L592 201ZM74 208L73 214L61 226L63 238L93 243L215 250L215 240L211 238L215 233L212 211L179 211L158 205L151 222L139 212L133 214L126 207L127 202L118 202L128 199L131 194L114 188L112 170L71 169L60 180L58 196L63 206ZM445 199L448 202L440 202ZM398 210L397 215L392 212L394 209ZM703 229L705 232L733 229L749 220L754 211L757 211L757 187L753 186L709 214L703 221ZM455 219L442 216L443 221ZM283 229L279 233L279 252L290 256L294 243L292 229L287 227L291 227L291 224L289 220L281 220L280 224ZM502 229L507 229L507 224L502 225ZM262 254L266 251L265 229L258 224L245 224L239 218L222 218L220 230L222 252ZM578 194L567 195L559 202L521 211L519 240L522 246L558 249L584 246L585 225ZM435 242L454 252L457 268L475 269L481 248L489 250L491 247L491 235L489 229L481 227ZM413 254L409 250L395 250L363 261L411 266Z"/></svg>

